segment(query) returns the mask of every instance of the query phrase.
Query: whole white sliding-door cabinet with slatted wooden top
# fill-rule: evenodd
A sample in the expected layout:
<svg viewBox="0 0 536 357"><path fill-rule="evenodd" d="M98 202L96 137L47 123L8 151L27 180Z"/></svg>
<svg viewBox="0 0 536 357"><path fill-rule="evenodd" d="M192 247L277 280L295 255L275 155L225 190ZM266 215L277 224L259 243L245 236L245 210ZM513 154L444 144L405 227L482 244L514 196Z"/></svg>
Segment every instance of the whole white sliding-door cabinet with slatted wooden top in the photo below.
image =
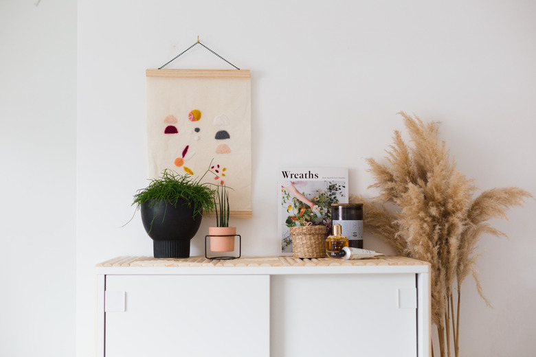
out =
<svg viewBox="0 0 536 357"><path fill-rule="evenodd" d="M429 266L402 257L118 257L97 356L429 356Z"/></svg>

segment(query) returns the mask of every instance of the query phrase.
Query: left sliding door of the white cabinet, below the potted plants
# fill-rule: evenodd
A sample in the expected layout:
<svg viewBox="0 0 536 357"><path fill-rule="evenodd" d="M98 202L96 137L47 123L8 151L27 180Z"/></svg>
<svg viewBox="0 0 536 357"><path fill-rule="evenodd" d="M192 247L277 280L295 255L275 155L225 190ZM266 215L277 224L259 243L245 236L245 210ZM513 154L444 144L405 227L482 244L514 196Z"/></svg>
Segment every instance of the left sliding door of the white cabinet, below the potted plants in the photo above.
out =
<svg viewBox="0 0 536 357"><path fill-rule="evenodd" d="M269 356L268 275L107 275L106 291L106 357Z"/></svg>

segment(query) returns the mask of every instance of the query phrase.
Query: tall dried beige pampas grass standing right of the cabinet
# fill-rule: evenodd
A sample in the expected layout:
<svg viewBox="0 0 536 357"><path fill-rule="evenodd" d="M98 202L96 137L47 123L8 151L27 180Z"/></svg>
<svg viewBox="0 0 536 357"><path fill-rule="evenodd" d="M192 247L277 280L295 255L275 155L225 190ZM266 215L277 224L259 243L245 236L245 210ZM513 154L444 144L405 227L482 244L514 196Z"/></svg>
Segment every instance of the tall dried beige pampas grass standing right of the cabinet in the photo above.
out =
<svg viewBox="0 0 536 357"><path fill-rule="evenodd" d="M408 146L394 131L386 163L367 159L379 189L375 198L350 196L351 203L364 203L366 231L388 242L400 255L429 262L432 281L432 321L438 327L440 356L450 356L450 325L454 352L458 356L460 288L471 273L484 297L476 270L476 253L482 234L506 236L490 226L491 218L506 219L506 210L533 197L517 187L494 188L480 193L473 180L456 170L439 125L399 113L410 135ZM394 204L395 209L388 205ZM458 295L454 314L454 289ZM455 321L458 321L455 323ZM445 335L446 334L446 339Z"/></svg>

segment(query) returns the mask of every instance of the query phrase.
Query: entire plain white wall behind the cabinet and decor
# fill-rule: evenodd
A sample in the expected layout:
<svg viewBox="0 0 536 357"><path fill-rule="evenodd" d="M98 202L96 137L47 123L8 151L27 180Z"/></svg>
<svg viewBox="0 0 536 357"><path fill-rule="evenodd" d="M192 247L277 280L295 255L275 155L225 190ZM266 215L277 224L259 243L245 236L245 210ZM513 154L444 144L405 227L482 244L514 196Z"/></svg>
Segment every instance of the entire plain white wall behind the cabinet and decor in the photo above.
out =
<svg viewBox="0 0 536 357"><path fill-rule="evenodd" d="M74 1L33 3L0 2L7 203L0 352L68 356L76 10ZM93 356L93 265L152 253L139 215L121 228L133 214L132 194L146 185L146 68L200 35L230 62L252 70L254 218L236 225L245 255L271 255L278 251L278 168L347 166L350 191L372 195L364 159L383 157L392 130L403 128L401 110L442 121L441 135L460 170L482 189L519 185L536 194L535 15L530 1L79 0L77 355ZM170 67L229 68L199 46ZM30 200L32 214L26 213ZM533 200L512 209L509 222L494 222L511 239L482 239L480 277L494 308L468 279L463 355L533 354L535 213ZM201 254L209 222L192 241L192 254ZM384 249L372 237L366 245ZM31 263L19 264L21 257Z"/></svg>

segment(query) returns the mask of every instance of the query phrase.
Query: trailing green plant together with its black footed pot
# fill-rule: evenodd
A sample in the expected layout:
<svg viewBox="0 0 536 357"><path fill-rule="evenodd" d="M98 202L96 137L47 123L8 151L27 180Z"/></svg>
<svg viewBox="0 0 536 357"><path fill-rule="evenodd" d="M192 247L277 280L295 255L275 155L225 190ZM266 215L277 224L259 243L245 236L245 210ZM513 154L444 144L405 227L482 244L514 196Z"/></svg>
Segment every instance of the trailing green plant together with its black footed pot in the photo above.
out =
<svg viewBox="0 0 536 357"><path fill-rule="evenodd" d="M214 208L214 189L202 179L164 170L134 195L133 205L142 212L155 258L190 257L190 240L199 229L203 210Z"/></svg>

